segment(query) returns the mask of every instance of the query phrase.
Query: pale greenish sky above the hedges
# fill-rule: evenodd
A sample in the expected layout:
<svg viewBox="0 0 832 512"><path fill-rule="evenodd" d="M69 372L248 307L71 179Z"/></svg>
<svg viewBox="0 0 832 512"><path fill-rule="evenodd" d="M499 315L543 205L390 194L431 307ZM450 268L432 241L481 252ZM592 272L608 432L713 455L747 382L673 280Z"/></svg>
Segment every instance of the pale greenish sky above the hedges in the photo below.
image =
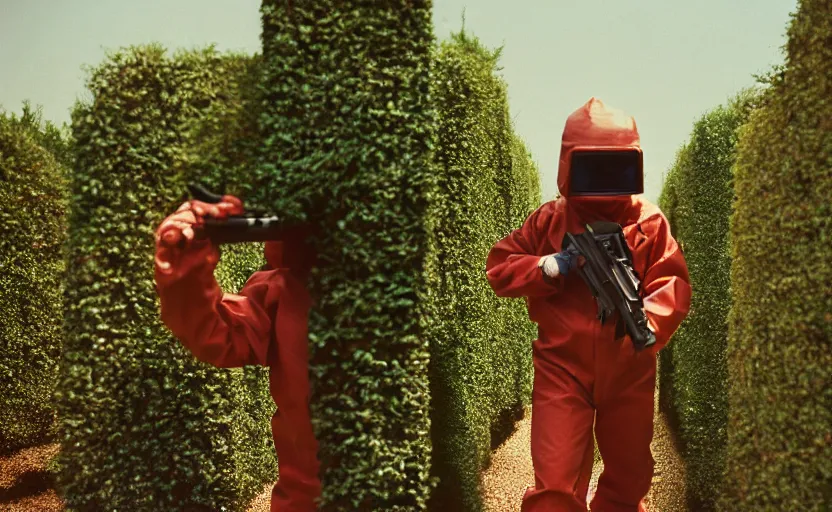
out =
<svg viewBox="0 0 832 512"><path fill-rule="evenodd" d="M435 0L440 39L466 29L503 45L502 73L516 129L557 190L566 117L595 96L635 116L645 195L693 122L781 63L796 0ZM83 66L106 50L160 42L169 49L216 43L260 50L260 0L0 0L0 106L23 100L47 119L69 121L84 95Z"/></svg>

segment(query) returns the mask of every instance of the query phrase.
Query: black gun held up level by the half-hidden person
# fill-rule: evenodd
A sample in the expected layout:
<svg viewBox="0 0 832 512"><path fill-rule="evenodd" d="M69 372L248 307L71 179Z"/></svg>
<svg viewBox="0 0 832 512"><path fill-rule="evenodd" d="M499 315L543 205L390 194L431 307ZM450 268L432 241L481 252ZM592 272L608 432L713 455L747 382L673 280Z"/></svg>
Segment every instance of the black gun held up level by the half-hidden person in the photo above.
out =
<svg viewBox="0 0 832 512"><path fill-rule="evenodd" d="M197 183L188 184L191 197L203 203L217 204L222 196L209 192ZM280 218L262 211L246 211L243 215L230 215L223 220L205 219L195 230L197 239L210 239L213 243L234 244L242 242L268 242L280 240L285 232Z"/></svg>

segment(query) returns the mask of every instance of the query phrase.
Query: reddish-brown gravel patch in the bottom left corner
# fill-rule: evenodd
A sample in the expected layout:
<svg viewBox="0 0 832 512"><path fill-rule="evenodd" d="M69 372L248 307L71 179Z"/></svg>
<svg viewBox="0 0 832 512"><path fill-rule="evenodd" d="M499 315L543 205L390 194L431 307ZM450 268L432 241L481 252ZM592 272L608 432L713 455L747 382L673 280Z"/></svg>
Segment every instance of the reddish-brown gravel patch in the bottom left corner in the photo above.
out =
<svg viewBox="0 0 832 512"><path fill-rule="evenodd" d="M0 457L0 511L59 512L64 504L46 473L57 444L34 446Z"/></svg>

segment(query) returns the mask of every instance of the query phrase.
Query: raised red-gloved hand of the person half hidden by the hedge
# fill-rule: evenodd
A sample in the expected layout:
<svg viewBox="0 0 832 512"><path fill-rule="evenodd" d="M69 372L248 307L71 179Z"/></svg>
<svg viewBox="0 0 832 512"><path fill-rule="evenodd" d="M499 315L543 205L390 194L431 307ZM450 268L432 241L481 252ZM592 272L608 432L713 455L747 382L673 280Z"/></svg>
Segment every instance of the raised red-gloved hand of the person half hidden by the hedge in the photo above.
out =
<svg viewBox="0 0 832 512"><path fill-rule="evenodd" d="M243 203L234 196L223 196L217 204L188 201L168 216L156 229L156 275L176 279L200 264L216 265L219 251L210 241L195 242L194 228L206 217L224 219L240 215Z"/></svg>

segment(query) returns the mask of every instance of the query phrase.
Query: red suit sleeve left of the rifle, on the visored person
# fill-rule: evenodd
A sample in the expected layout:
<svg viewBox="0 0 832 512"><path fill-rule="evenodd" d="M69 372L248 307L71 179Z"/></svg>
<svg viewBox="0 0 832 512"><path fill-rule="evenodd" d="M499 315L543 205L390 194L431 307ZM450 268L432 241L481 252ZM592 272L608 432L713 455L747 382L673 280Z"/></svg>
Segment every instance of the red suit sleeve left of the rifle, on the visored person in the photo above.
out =
<svg viewBox="0 0 832 512"><path fill-rule="evenodd" d="M532 213L519 229L497 242L486 260L488 283L499 297L543 297L560 291L563 276L549 279L538 267L554 215L543 207Z"/></svg>

